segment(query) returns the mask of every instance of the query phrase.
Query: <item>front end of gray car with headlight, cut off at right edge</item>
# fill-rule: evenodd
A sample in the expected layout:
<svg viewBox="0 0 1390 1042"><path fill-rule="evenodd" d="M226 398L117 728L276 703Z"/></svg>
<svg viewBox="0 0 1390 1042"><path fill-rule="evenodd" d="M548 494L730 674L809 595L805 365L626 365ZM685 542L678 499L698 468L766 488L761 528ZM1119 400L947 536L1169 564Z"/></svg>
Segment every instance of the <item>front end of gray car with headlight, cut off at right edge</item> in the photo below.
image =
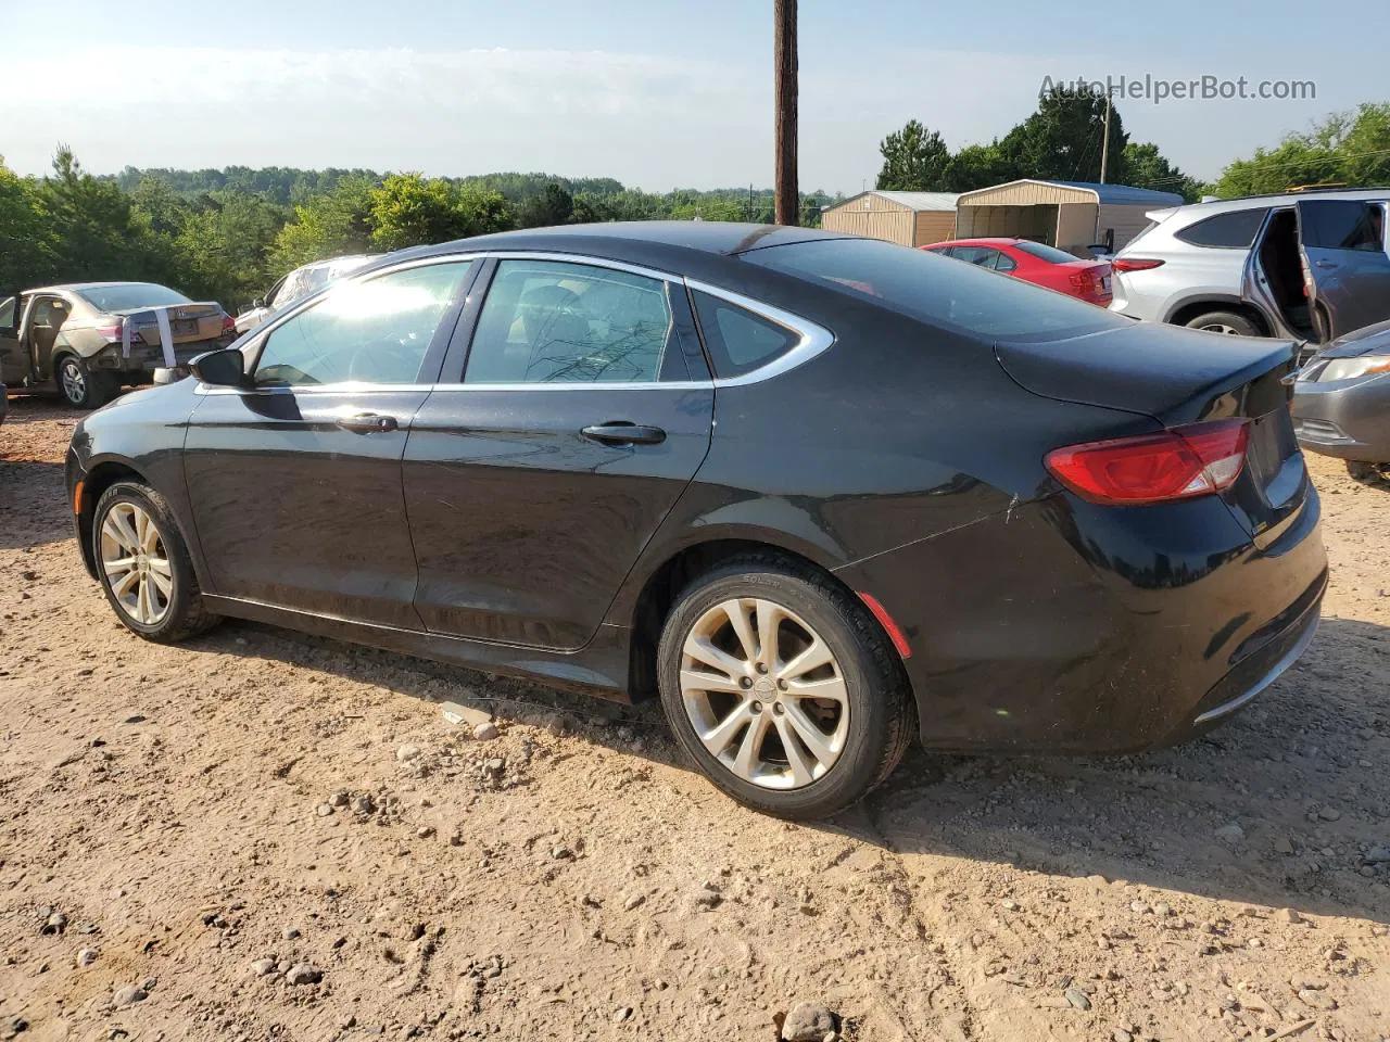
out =
<svg viewBox="0 0 1390 1042"><path fill-rule="evenodd" d="M1334 340L1298 372L1294 431L1354 478L1390 475L1390 322Z"/></svg>

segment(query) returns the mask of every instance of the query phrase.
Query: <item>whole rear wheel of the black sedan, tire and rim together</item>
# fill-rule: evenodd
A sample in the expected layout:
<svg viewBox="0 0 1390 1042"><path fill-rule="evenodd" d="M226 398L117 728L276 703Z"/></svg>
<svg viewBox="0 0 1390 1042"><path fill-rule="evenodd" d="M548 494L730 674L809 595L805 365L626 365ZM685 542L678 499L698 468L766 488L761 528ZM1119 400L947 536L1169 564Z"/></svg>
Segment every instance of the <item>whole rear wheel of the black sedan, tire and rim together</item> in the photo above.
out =
<svg viewBox="0 0 1390 1042"><path fill-rule="evenodd" d="M657 672L685 753L735 800L776 817L848 807L912 741L906 677L878 624L828 577L774 556L687 586Z"/></svg>

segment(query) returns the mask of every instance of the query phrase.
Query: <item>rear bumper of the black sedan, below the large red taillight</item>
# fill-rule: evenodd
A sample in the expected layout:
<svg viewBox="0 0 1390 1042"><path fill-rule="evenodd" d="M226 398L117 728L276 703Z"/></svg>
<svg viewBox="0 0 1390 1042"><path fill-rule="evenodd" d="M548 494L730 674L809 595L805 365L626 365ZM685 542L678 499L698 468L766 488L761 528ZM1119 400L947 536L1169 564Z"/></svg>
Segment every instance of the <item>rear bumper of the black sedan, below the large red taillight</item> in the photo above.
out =
<svg viewBox="0 0 1390 1042"><path fill-rule="evenodd" d="M905 632L926 746L1130 753L1247 704L1311 640L1327 582L1316 492L1257 546L1219 499L1068 495L842 571Z"/></svg>

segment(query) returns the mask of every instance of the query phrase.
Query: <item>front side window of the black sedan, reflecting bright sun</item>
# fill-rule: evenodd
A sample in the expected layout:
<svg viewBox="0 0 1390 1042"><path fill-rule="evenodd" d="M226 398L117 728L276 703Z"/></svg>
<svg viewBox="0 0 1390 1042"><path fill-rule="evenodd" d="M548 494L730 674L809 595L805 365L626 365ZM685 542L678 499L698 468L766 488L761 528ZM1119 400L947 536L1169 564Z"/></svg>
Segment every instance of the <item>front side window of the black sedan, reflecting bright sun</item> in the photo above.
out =
<svg viewBox="0 0 1390 1042"><path fill-rule="evenodd" d="M256 386L417 382L470 264L428 264L341 283L271 329L256 365Z"/></svg>

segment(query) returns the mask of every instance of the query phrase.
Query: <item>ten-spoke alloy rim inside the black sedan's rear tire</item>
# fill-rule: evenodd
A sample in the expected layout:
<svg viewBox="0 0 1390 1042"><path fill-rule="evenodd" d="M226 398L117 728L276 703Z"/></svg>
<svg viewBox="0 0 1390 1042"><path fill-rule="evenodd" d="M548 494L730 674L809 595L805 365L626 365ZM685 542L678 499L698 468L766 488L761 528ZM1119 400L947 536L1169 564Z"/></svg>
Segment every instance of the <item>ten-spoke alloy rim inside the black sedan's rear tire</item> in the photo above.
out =
<svg viewBox="0 0 1390 1042"><path fill-rule="evenodd" d="M849 692L830 646L760 597L726 600L696 620L681 647L681 702L709 754L766 789L824 777L849 735Z"/></svg>

